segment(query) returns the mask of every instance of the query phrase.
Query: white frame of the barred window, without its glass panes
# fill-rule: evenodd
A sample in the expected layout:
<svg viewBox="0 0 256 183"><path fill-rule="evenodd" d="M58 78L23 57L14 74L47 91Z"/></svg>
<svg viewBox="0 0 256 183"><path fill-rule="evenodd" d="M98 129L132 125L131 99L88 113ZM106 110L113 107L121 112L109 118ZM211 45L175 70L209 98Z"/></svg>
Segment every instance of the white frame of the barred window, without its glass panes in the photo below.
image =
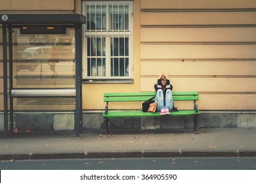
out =
<svg viewBox="0 0 256 183"><path fill-rule="evenodd" d="M129 4L129 31L127 30L110 30L109 29L109 12L108 7L109 5L128 5ZM92 81L92 80L129 80L133 79L133 1L83 1L83 15L87 16L86 14L86 5L106 5L106 30L88 30L87 31L87 24L83 26L83 79ZM106 76L87 76L87 38L88 37L95 37L102 38L106 37ZM110 43L112 37L119 37L119 38L129 38L129 76L111 76L111 53L110 53ZM121 57L122 58L122 57Z"/></svg>

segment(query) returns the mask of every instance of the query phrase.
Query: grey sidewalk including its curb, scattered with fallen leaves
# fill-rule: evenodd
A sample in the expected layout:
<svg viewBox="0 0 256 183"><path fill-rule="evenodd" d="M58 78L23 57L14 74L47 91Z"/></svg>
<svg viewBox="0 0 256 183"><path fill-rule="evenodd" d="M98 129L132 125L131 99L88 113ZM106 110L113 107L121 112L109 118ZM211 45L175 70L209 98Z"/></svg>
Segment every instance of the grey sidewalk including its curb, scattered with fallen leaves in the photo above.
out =
<svg viewBox="0 0 256 183"><path fill-rule="evenodd" d="M255 157L256 128L29 131L5 139L0 160L69 158Z"/></svg>

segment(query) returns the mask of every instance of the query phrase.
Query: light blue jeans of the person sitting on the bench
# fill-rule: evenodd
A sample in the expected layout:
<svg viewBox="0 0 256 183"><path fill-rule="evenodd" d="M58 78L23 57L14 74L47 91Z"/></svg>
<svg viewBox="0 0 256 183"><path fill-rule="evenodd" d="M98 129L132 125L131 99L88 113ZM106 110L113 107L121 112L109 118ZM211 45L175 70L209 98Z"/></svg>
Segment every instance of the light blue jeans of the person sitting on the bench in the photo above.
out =
<svg viewBox="0 0 256 183"><path fill-rule="evenodd" d="M163 90L158 90L158 92L156 92L155 103L158 103L156 110L158 112L163 108L168 108L169 111L173 110L173 93L171 93L171 90L166 90L165 97L163 96Z"/></svg>

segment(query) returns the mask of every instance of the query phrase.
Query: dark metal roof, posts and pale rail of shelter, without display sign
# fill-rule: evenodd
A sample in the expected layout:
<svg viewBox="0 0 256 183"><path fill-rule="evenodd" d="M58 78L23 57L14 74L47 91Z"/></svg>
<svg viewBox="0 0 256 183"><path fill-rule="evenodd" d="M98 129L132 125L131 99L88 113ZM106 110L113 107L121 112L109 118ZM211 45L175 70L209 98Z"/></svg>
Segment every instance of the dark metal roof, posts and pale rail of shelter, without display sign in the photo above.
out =
<svg viewBox="0 0 256 183"><path fill-rule="evenodd" d="M4 110L4 136L8 138L13 135L13 97L22 97L24 90L12 89L12 27L15 25L35 25L35 24L60 24L67 25L67 27L75 28L75 89L74 90L32 90L33 96L73 96L75 97L75 135L79 137L82 133L82 45L81 44L81 25L86 24L85 16L81 14L0 14L0 24L3 29L3 110ZM9 44L7 45L7 30L9 37ZM9 46L9 76L7 71L7 46ZM9 77L9 89L8 89ZM8 123L8 92L10 103L10 126ZM58 93L60 92L60 93ZM9 134L10 131L10 134Z"/></svg>

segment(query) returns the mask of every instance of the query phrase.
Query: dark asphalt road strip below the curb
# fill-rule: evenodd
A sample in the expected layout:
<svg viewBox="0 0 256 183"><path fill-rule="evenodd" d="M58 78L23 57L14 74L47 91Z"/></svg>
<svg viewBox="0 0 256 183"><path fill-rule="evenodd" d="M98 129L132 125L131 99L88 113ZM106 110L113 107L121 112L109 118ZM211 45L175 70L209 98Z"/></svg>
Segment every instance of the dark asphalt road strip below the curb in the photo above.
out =
<svg viewBox="0 0 256 183"><path fill-rule="evenodd" d="M256 170L256 158L39 159L0 161L1 170Z"/></svg>

